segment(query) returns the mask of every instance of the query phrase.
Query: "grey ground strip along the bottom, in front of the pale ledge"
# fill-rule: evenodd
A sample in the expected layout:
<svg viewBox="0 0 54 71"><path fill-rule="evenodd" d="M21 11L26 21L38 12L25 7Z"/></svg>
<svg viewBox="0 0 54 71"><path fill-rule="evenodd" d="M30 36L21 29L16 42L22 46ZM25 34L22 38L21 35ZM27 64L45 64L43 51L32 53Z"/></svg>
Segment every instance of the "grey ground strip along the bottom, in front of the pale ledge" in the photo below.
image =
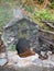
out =
<svg viewBox="0 0 54 71"><path fill-rule="evenodd" d="M10 68L10 67L0 67L0 71L54 71L54 68L40 68L35 66L30 66L26 68Z"/></svg>

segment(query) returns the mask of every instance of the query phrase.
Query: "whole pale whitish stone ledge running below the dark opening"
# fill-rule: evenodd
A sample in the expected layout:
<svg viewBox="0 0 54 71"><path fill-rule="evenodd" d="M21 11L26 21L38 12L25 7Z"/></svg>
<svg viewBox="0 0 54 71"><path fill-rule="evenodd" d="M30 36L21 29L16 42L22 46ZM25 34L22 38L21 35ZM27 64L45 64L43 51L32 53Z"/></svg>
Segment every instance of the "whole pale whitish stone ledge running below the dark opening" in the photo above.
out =
<svg viewBox="0 0 54 71"><path fill-rule="evenodd" d="M35 66L35 67L42 67L42 68L52 68L54 67L54 61L52 61L53 56L48 56L48 59L41 60L39 59L39 55L21 58L17 55L17 51L9 51L9 66L13 67L29 67L29 66Z"/></svg>

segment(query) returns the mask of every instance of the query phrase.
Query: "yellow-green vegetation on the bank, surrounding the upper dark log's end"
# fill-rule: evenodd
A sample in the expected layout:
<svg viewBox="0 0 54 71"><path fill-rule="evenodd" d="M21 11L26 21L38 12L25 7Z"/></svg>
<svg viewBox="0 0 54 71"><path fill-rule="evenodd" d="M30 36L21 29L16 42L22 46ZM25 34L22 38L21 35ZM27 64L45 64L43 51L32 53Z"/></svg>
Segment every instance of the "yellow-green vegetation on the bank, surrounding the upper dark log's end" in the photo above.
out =
<svg viewBox="0 0 54 71"><path fill-rule="evenodd" d="M54 14L51 13L50 11L47 10L35 10L35 13L31 13L30 14L30 17L32 19L32 21L34 21L37 25L40 25L41 27L43 27L44 29L47 29L47 31L53 31L53 28L51 28L50 26L47 26L46 24L43 24L41 22L41 20L46 20L46 21L50 21L50 22L54 22Z"/></svg>

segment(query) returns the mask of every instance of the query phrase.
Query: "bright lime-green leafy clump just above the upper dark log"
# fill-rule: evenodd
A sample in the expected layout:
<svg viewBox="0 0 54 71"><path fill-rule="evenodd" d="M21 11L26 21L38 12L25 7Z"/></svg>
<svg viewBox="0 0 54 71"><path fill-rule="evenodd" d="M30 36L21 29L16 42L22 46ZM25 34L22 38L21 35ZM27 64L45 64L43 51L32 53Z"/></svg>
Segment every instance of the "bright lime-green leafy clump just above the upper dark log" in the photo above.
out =
<svg viewBox="0 0 54 71"><path fill-rule="evenodd" d="M54 14L52 14L47 10L37 11L35 12L34 16L37 17L39 20L54 21Z"/></svg>

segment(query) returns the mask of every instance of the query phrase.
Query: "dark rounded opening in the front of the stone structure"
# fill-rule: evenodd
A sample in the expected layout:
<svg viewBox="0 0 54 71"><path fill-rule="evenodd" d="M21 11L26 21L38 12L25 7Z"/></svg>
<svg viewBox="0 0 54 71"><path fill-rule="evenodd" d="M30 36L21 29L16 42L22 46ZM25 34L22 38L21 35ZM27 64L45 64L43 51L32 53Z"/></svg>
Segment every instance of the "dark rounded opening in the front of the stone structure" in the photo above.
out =
<svg viewBox="0 0 54 71"><path fill-rule="evenodd" d="M30 49L30 44L29 44L28 39L20 38L18 44L17 44L17 51L18 51L18 54L23 54L28 49Z"/></svg>

